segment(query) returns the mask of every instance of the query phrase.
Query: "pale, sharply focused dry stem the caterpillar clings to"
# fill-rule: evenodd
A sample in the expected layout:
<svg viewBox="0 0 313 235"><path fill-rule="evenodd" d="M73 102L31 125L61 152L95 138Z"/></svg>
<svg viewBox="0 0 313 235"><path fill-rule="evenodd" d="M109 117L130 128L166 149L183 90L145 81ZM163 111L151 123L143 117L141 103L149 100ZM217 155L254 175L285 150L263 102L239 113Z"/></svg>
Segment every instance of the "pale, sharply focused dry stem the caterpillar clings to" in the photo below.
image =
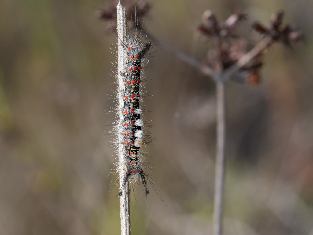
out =
<svg viewBox="0 0 313 235"><path fill-rule="evenodd" d="M117 47L117 54L118 54L118 89L123 89L123 79L120 73L120 70L124 68L125 64L125 56L122 50L122 42L126 41L127 29L126 29L126 13L125 8L122 7L120 1L117 4L117 38L118 38L118 47ZM119 98L119 109L122 110L123 107L123 99L120 96ZM123 120L122 112L120 112L120 123ZM119 136L119 166L123 164L123 140L122 135ZM125 171L122 167L119 167L119 177L120 177L120 189L123 185L123 178L125 175ZM130 217L130 187L129 183L127 183L124 187L124 191L122 196L120 196L120 206L121 206L121 235L130 235L131 234L131 217Z"/></svg>

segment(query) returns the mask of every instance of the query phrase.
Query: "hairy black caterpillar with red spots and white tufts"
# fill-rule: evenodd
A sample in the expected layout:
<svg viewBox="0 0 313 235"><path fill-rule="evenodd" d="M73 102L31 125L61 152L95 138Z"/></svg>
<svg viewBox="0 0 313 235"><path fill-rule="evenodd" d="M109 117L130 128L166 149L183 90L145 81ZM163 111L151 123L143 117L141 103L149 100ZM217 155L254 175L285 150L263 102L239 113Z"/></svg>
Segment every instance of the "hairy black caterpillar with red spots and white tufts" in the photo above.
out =
<svg viewBox="0 0 313 235"><path fill-rule="evenodd" d="M141 30L132 28L125 40L119 40L118 46L122 50L122 65L118 66L118 122L115 128L117 155L119 162L116 164L116 172L122 170L122 183L117 196L122 196L125 186L131 182L142 182L144 193L147 196L149 190L147 181L151 183L144 172L146 164L143 163L140 148L151 137L144 134L144 122L142 120L142 66L147 62L145 56L152 48L151 41L141 39ZM122 160L121 160L122 159ZM152 187L153 184L151 183ZM154 188L154 187L153 187Z"/></svg>

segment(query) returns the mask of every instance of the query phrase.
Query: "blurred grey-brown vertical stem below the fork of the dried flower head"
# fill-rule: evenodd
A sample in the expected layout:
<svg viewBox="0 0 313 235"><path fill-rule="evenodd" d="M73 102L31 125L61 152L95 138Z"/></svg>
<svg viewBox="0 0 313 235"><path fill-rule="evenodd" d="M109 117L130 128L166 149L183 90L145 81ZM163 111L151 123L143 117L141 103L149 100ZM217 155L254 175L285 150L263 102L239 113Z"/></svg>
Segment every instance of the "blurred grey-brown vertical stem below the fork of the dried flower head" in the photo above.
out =
<svg viewBox="0 0 313 235"><path fill-rule="evenodd" d="M216 84L217 96L217 150L215 163L215 193L213 208L213 235L222 234L223 225L223 190L225 176L225 83L218 81Z"/></svg>

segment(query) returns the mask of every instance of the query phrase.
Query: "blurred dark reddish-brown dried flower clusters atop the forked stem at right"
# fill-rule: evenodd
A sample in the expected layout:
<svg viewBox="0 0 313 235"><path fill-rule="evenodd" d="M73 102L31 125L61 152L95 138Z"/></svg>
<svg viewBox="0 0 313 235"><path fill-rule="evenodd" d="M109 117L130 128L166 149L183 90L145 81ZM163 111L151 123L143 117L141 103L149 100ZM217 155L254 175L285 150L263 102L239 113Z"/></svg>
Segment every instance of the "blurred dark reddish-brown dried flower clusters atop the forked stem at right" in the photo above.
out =
<svg viewBox="0 0 313 235"><path fill-rule="evenodd" d="M237 11L233 13L225 22L218 24L215 15L207 10L203 13L203 24L197 26L197 31L206 38L212 38L220 42L218 48L214 48L208 52L204 64L219 70L226 70L232 65L235 65L244 55L246 55L254 45L247 42L246 39L240 38L233 33L233 30L240 21L246 18L246 14ZM293 25L282 24L283 12L278 11L273 13L269 29L258 22L254 22L252 28L255 29L264 37L269 37L273 41L282 42L290 47L291 42L303 40L303 35ZM270 43L268 44L268 46ZM235 74L236 78L245 78L250 86L259 84L259 68L262 66L262 54L264 50L260 50L259 54L252 57L248 63L240 67Z"/></svg>

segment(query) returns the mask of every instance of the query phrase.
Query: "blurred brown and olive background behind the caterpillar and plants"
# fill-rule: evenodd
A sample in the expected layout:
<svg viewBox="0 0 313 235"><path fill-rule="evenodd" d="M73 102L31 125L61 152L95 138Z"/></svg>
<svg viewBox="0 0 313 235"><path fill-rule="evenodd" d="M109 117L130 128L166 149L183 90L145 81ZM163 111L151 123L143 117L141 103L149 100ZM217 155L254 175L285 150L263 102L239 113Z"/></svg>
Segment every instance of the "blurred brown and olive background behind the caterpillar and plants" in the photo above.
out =
<svg viewBox="0 0 313 235"><path fill-rule="evenodd" d="M108 136L115 102L116 35L95 17L103 0L0 2L0 234L120 233L115 158ZM237 34L252 43L254 20L285 11L305 42L272 46L261 83L227 84L224 234L313 235L313 2L150 1L144 22L162 42L201 61L210 42L194 33L205 10L235 8ZM132 194L133 234L211 234L216 138L215 85L154 47L144 107L156 179ZM150 79L151 78L151 79ZM158 194L162 197L160 199Z"/></svg>

